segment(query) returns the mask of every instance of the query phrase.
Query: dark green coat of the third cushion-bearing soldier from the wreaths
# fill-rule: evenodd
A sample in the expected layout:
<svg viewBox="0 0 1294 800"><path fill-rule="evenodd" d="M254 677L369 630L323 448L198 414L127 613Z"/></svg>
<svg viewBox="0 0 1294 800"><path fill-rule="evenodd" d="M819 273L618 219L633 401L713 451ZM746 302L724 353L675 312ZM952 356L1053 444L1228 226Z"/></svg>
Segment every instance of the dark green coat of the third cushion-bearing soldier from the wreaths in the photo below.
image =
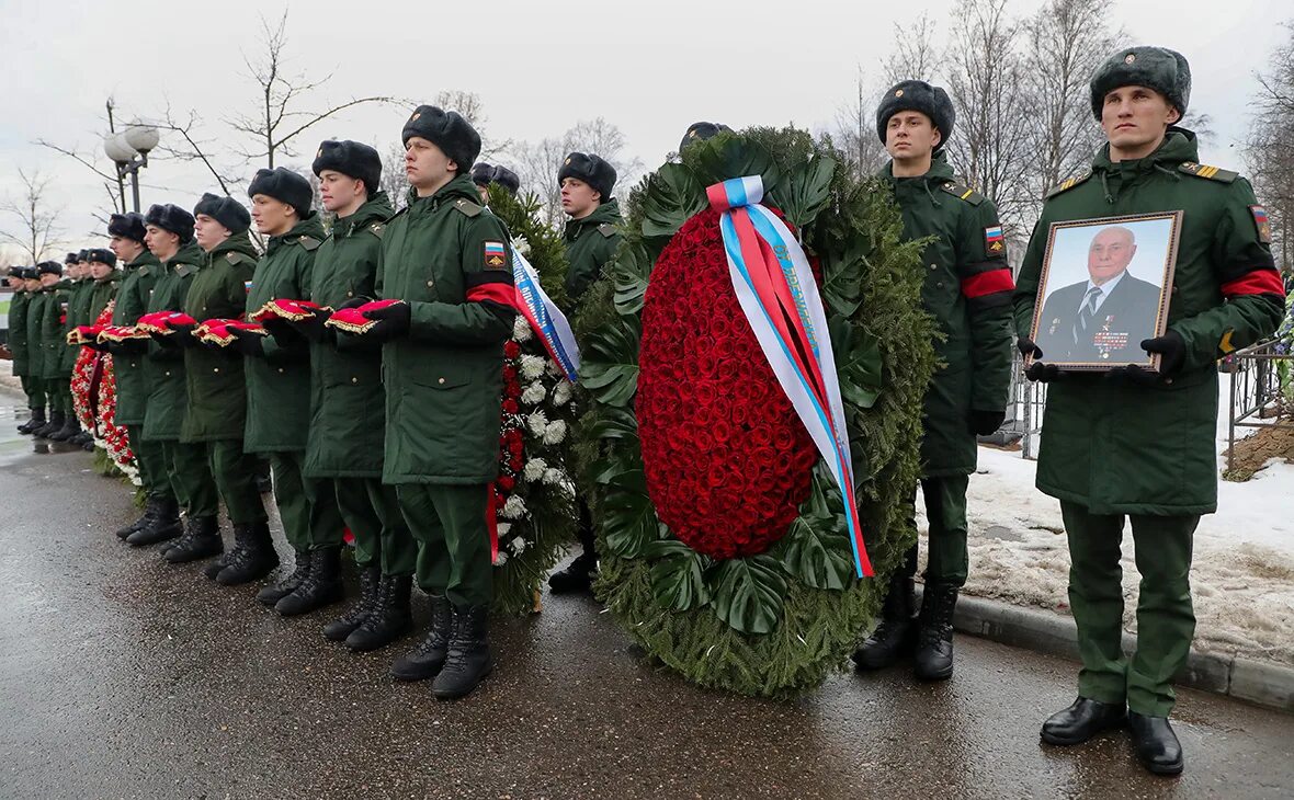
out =
<svg viewBox="0 0 1294 800"><path fill-rule="evenodd" d="M311 216L282 237L270 237L256 264L247 310L270 300L303 300L311 291L314 252L324 242L320 216ZM264 358L247 358L247 452L305 450L311 428L311 359L304 337L267 336Z"/></svg>

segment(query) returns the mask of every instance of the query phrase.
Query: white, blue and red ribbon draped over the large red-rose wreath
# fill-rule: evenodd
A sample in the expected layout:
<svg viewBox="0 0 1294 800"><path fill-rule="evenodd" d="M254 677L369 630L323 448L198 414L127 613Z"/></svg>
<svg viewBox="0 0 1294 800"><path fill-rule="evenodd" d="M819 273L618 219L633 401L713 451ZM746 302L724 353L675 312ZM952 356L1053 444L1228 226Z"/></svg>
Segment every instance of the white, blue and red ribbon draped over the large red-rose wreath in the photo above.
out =
<svg viewBox="0 0 1294 800"><path fill-rule="evenodd" d="M827 311L809 258L782 220L760 204L763 199L760 176L723 181L705 194L710 208L721 212L719 230L732 291L763 357L840 486L855 573L871 578L872 565L854 498L845 405Z"/></svg>

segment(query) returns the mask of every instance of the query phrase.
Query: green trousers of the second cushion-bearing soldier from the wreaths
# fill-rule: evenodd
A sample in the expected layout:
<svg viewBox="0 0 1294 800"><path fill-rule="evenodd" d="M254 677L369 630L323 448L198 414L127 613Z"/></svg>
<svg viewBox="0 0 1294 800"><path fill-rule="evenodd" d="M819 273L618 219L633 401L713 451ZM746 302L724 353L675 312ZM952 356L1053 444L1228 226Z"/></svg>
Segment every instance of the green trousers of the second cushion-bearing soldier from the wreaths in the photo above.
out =
<svg viewBox="0 0 1294 800"><path fill-rule="evenodd" d="M360 569L377 566L383 575L413 575L418 547L400 513L400 499L393 486L379 478L329 478L321 481L324 492L336 499L342 520L355 536L355 563ZM313 531L312 548L342 544L342 530Z"/></svg>

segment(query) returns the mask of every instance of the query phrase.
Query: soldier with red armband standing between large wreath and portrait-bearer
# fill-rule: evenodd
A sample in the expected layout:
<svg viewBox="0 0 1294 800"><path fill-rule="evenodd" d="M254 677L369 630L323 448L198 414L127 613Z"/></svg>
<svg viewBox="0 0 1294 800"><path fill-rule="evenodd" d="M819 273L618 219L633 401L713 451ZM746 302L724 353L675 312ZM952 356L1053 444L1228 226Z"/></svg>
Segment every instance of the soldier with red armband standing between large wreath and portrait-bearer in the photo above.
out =
<svg viewBox="0 0 1294 800"><path fill-rule="evenodd" d="M967 485L976 468L976 434L992 433L1005 416L1013 354L1014 283L998 209L956 180L943 158L954 119L947 93L921 80L890 88L876 111L876 133L892 156L881 177L903 213L903 235L933 238L921 257L921 305L938 322L942 336L934 349L942 363L921 415L921 492L930 536L920 618L912 616L914 542L890 576L881 624L854 662L879 669L915 646L916 675L924 680L952 675L952 613L967 579ZM915 534L915 518L910 525Z"/></svg>

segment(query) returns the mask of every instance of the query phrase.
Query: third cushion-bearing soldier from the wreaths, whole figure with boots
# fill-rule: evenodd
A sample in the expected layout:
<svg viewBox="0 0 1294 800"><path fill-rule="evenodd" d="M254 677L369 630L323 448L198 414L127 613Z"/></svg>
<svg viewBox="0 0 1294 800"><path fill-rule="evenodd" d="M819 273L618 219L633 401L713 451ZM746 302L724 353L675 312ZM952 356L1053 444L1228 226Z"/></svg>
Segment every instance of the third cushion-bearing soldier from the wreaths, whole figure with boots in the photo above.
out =
<svg viewBox="0 0 1294 800"><path fill-rule="evenodd" d="M325 235L311 209L313 195L309 181L282 167L261 169L252 178L247 189L251 216L268 240L247 295L250 311L274 299L303 300L309 293L314 251ZM343 525L334 498L320 491L318 481L302 474L311 425L309 341L286 326L269 330L273 336L233 332L238 335L236 346L247 357L243 450L269 455L278 517L296 553L292 573L256 598L292 616L342 600L342 548L312 548L311 531L329 530L340 538Z"/></svg>

